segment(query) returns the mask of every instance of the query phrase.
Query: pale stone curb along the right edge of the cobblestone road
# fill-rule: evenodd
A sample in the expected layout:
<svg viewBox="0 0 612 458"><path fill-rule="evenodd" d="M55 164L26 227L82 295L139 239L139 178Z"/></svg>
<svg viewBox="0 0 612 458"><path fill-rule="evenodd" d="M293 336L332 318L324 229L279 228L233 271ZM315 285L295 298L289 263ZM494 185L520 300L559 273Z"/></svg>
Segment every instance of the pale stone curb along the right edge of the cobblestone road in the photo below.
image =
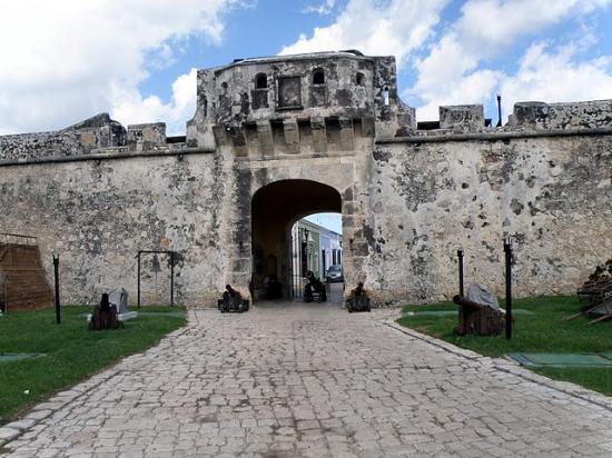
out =
<svg viewBox="0 0 612 458"><path fill-rule="evenodd" d="M569 381L557 381L544 376L540 376L537 374L530 371L529 369L522 368L516 362L507 358L490 358L486 356L482 356L480 354L476 354L475 351L460 348L452 344L448 344L443 340L436 339L434 337L415 331L414 329L405 328L401 325L397 325L393 320L386 320L386 321L383 321L383 323L399 332L403 332L415 339L422 340L433 347L441 348L461 358L468 359L473 362L477 362L481 366L492 367L494 370L511 374L513 376L520 377L533 384L544 386L546 388L563 392L564 395L581 399L590 404L594 404L599 407L602 407L606 410L612 411L612 399L596 391L589 390L586 388L580 387Z"/></svg>

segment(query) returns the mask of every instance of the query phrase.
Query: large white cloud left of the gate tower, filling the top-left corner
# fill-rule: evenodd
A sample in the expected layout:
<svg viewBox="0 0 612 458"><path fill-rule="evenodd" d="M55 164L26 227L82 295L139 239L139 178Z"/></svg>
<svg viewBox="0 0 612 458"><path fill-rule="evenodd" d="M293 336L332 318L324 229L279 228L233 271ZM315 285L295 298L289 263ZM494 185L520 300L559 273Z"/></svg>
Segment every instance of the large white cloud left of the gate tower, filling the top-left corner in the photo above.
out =
<svg viewBox="0 0 612 458"><path fill-rule="evenodd" d="M177 119L187 76L168 104L140 100L148 68L174 59L191 37L219 43L237 0L19 0L0 14L0 135L66 127L99 111ZM189 73L191 74L191 73ZM194 84L195 89L195 84ZM130 108L131 104L131 108ZM140 110L138 109L140 106ZM144 107L151 108L149 116ZM129 114L131 113L131 114ZM193 113L191 113L193 114ZM184 128L182 128L184 130Z"/></svg>

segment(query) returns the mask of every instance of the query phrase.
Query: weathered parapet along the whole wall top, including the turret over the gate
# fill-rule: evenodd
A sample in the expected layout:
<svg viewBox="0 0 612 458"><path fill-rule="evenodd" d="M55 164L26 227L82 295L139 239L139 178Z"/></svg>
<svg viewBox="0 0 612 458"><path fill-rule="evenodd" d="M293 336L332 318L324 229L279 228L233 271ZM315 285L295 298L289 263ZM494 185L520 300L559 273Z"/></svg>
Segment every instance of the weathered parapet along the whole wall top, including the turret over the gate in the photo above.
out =
<svg viewBox="0 0 612 458"><path fill-rule="evenodd" d="M444 106L438 121L417 123L414 108L398 97L395 58L352 50L236 59L199 70L185 137L167 137L164 122L125 128L101 113L55 132L0 137L0 161L219 147L239 157L327 155L365 139L602 128L612 128L612 100L519 102L499 128L482 104Z"/></svg>

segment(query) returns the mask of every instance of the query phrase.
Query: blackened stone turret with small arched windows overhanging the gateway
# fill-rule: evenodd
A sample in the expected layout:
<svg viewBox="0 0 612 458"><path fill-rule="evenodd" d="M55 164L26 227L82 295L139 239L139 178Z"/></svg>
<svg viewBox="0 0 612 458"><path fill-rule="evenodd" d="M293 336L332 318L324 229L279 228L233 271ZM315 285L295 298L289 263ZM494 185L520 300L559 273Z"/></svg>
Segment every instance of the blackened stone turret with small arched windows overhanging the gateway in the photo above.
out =
<svg viewBox="0 0 612 458"><path fill-rule="evenodd" d="M226 132L245 156L257 138L263 156L275 153L282 133L287 153L299 152L298 123L312 132L312 152L327 152L325 129L347 136L355 123L376 138L414 128L414 109L397 98L395 58L359 51L236 59L198 71L197 112L187 123L187 145L215 147ZM405 132L405 131L404 131ZM215 141L217 139L217 141ZM254 151L251 151L254 152Z"/></svg>

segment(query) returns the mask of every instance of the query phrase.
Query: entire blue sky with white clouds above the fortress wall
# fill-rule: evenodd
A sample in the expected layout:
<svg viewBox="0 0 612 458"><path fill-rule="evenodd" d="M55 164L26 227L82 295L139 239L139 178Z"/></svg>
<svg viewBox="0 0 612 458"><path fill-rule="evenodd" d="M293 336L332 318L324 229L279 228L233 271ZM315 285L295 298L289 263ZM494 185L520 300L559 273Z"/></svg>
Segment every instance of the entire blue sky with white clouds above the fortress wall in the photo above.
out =
<svg viewBox="0 0 612 458"><path fill-rule="evenodd" d="M417 120L441 104L612 98L612 0L6 0L0 135L98 112L185 132L196 69L340 49L393 54ZM10 44L9 44L10 43Z"/></svg>

